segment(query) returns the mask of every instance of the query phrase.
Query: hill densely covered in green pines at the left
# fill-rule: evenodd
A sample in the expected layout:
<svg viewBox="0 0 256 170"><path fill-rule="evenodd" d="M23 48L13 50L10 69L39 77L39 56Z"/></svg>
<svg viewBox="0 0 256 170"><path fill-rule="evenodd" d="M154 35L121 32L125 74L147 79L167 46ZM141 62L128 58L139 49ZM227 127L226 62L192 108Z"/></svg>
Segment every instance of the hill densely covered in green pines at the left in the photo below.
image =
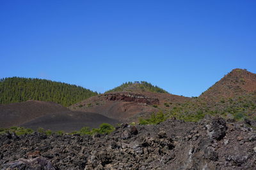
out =
<svg viewBox="0 0 256 170"><path fill-rule="evenodd" d="M51 80L19 77L0 79L0 104L38 100L70 106L96 95L97 92L92 90Z"/></svg>

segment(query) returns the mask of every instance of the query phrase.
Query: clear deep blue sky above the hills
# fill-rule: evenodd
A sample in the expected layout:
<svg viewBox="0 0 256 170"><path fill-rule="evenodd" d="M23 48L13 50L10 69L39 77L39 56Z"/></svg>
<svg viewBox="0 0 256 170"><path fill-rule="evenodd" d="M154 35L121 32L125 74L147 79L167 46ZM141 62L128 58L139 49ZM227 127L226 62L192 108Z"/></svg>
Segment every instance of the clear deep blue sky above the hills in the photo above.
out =
<svg viewBox="0 0 256 170"><path fill-rule="evenodd" d="M0 59L0 78L199 96L234 68L256 73L256 1L0 1Z"/></svg>

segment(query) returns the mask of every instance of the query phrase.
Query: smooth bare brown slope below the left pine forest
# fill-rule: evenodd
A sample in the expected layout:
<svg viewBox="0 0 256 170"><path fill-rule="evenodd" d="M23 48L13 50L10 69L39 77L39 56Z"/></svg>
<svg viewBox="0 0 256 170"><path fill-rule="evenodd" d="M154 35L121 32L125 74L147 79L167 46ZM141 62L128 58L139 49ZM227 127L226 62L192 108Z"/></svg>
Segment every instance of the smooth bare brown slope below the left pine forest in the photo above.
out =
<svg viewBox="0 0 256 170"><path fill-rule="evenodd" d="M34 118L62 111L68 111L68 109L53 102L26 101L22 103L1 104L0 127L17 126Z"/></svg>

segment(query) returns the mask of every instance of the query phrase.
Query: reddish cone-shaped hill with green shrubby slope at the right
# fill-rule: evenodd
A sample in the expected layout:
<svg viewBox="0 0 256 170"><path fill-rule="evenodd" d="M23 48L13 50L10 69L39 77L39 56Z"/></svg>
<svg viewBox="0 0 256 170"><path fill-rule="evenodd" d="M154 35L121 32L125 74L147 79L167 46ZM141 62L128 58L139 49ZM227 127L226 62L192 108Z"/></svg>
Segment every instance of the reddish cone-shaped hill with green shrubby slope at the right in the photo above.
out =
<svg viewBox="0 0 256 170"><path fill-rule="evenodd" d="M199 97L173 106L170 117L186 121L198 121L205 115L254 120L256 74L245 69L233 69Z"/></svg>

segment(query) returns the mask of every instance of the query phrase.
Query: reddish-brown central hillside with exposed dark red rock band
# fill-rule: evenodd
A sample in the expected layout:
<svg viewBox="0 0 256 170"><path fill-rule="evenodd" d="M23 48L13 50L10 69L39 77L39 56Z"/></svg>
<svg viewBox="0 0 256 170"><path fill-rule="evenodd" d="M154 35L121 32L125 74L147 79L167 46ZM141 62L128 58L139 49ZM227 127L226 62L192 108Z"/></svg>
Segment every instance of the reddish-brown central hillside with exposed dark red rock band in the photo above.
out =
<svg viewBox="0 0 256 170"><path fill-rule="evenodd" d="M189 97L154 92L109 92L70 106L70 110L99 113L120 121L136 122L153 112L188 101Z"/></svg>

